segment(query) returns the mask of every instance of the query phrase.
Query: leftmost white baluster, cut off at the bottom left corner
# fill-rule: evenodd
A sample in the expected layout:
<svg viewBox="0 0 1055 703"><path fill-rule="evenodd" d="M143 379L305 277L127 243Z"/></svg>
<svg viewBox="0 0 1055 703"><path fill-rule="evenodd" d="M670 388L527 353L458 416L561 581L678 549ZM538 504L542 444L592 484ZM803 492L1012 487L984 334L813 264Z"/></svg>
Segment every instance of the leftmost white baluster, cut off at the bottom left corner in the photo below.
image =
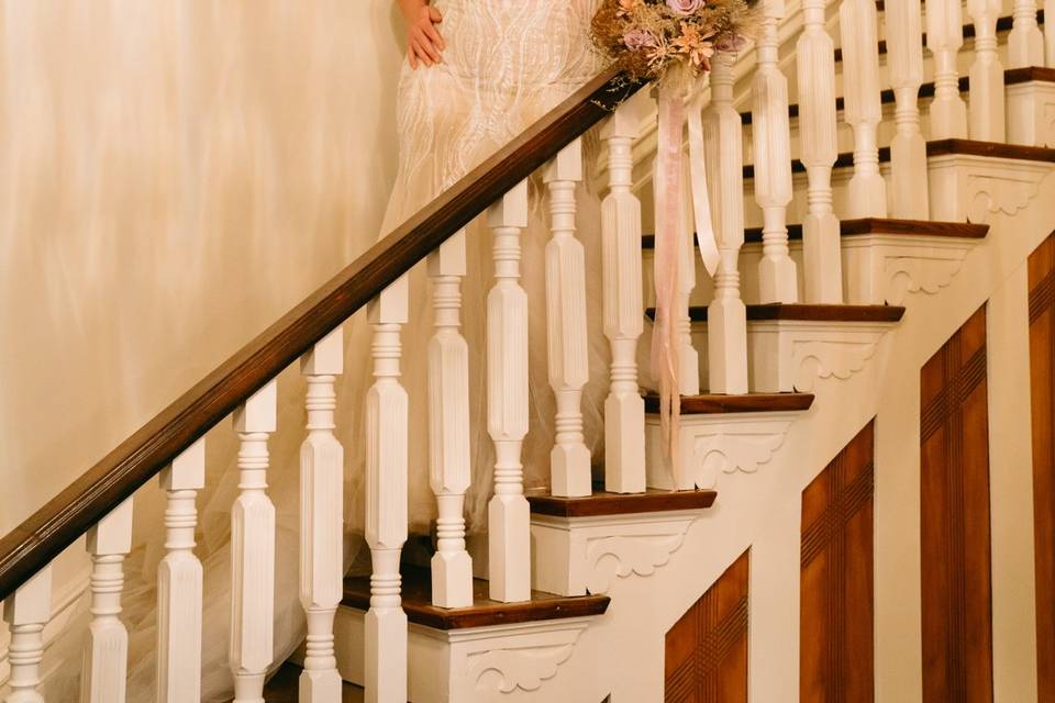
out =
<svg viewBox="0 0 1055 703"><path fill-rule="evenodd" d="M44 625L52 616L52 567L19 587L3 602L3 620L11 629L8 663L11 692L4 703L44 703L36 687L41 683L44 659Z"/></svg>

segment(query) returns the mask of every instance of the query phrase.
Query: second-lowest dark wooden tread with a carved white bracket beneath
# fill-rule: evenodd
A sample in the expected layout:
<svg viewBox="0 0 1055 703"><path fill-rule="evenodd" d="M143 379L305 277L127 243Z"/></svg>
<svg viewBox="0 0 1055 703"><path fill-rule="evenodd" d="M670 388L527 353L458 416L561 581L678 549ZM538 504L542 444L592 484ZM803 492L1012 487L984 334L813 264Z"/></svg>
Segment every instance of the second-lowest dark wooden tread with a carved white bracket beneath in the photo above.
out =
<svg viewBox="0 0 1055 703"><path fill-rule="evenodd" d="M631 515L658 513L674 510L710 507L718 493L714 491L659 491L648 489L644 493L609 493L595 489L584 498L557 498L543 492L528 492L531 512L556 517L595 517L598 515Z"/></svg>

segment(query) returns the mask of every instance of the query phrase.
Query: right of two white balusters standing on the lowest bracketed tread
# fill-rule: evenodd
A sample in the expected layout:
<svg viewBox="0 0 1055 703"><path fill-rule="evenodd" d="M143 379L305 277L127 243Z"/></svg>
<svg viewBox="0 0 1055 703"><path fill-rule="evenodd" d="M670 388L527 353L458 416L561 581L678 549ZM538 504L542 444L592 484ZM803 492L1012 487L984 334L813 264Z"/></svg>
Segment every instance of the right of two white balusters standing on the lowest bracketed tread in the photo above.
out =
<svg viewBox="0 0 1055 703"><path fill-rule="evenodd" d="M520 286L520 235L528 183L491 205L495 286L487 297L487 424L495 440L495 496L488 504L490 596L531 598L530 511L521 447L528 434L528 295Z"/></svg>

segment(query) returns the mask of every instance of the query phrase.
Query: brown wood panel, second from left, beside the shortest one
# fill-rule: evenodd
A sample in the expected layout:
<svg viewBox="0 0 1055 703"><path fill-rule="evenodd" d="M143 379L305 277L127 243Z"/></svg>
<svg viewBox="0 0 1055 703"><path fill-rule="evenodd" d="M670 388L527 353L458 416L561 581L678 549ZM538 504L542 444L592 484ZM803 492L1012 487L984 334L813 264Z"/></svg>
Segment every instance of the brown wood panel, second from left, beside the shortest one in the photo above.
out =
<svg viewBox="0 0 1055 703"><path fill-rule="evenodd" d="M869 422L802 491L802 703L875 700Z"/></svg>

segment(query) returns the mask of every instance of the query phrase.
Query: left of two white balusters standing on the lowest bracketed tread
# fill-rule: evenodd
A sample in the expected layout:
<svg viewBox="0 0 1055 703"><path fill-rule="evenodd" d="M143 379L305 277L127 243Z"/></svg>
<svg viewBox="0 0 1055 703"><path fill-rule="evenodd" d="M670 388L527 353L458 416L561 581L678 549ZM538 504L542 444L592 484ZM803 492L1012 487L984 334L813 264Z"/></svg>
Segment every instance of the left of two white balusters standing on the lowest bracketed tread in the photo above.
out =
<svg viewBox="0 0 1055 703"><path fill-rule="evenodd" d="M473 604L473 561L465 550L469 459L469 347L462 336L465 231L429 255L436 332L429 341L429 467L440 517L432 557L432 604Z"/></svg>

